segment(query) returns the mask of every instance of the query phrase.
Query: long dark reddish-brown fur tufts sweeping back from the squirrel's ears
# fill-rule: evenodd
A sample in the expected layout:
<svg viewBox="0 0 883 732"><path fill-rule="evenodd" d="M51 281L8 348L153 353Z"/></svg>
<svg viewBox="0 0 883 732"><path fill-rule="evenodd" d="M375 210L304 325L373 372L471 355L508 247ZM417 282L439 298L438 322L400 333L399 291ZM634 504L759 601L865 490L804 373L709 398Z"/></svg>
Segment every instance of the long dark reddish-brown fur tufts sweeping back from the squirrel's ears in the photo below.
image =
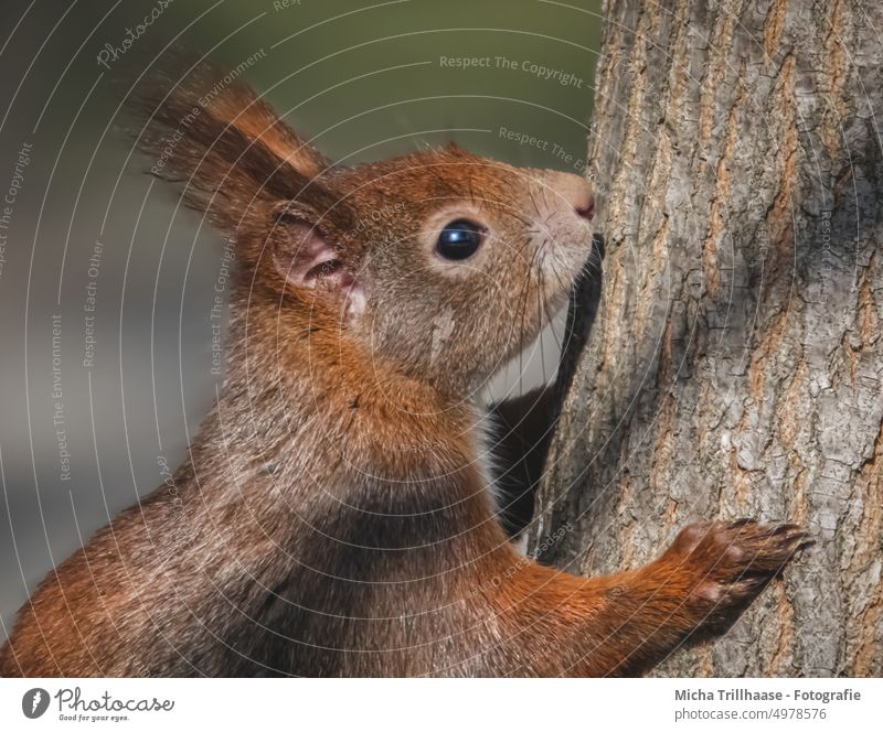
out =
<svg viewBox="0 0 883 732"><path fill-rule="evenodd" d="M179 50L155 66L126 95L130 136L151 174L225 234L263 230L260 204L308 195L329 168L240 77Z"/></svg>

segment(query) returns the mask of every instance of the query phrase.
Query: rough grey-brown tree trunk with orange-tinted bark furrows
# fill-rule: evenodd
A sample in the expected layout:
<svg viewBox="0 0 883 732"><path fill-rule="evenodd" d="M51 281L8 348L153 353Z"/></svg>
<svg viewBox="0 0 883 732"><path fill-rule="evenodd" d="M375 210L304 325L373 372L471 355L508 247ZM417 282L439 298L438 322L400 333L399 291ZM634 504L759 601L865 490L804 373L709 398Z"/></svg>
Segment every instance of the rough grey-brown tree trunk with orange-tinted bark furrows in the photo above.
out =
<svg viewBox="0 0 883 732"><path fill-rule="evenodd" d="M606 10L603 291L533 546L597 574L696 518L796 521L784 582L657 674L883 675L883 4Z"/></svg>

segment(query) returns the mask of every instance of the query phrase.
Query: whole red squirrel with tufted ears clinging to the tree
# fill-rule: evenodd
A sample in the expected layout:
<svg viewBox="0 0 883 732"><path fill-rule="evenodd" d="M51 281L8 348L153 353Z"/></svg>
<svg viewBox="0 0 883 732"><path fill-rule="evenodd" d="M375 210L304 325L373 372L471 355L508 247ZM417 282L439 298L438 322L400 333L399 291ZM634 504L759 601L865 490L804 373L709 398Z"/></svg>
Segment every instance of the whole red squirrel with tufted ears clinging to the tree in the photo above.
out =
<svg viewBox="0 0 883 732"><path fill-rule="evenodd" d="M225 383L173 489L36 589L2 675L640 675L806 545L711 521L583 578L508 540L477 395L567 303L582 176L454 146L333 165L209 62L131 107L153 172L235 243ZM494 411L536 429L546 399Z"/></svg>

